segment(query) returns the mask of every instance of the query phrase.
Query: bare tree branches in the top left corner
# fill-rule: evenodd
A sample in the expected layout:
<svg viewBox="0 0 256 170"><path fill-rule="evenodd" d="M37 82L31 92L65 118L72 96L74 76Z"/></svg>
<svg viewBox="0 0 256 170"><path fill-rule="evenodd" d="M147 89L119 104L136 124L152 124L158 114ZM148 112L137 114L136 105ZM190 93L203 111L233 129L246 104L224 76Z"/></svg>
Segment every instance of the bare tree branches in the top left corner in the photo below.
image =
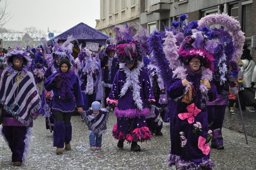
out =
<svg viewBox="0 0 256 170"><path fill-rule="evenodd" d="M7 7L7 0L0 0L0 29L13 17L11 12L7 11Z"/></svg>

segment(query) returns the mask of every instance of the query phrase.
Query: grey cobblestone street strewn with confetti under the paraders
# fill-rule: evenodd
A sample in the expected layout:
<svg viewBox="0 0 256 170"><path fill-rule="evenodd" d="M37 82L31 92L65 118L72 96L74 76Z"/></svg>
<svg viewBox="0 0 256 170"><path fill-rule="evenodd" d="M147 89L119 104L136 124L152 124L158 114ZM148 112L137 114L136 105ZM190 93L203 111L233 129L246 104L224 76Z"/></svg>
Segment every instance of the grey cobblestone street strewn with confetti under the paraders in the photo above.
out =
<svg viewBox="0 0 256 170"><path fill-rule="evenodd" d="M45 117L39 116L34 124L26 163L21 167L12 166L11 151L1 136L0 169L175 169L174 166L168 167L166 163L170 149L169 123L164 123L163 136L153 136L151 141L140 143L141 152L132 152L130 145L126 143L123 149L116 147L117 140L111 136L111 129L116 122L113 113L110 114L108 132L103 135L100 151L90 151L87 126L81 121L81 117L74 115L71 122L72 149L63 150L62 155L56 155L56 148L52 147L53 133L46 130ZM225 149L211 149L210 158L215 169L256 168L255 137L248 136L247 145L243 133L227 128L223 128L223 137Z"/></svg>

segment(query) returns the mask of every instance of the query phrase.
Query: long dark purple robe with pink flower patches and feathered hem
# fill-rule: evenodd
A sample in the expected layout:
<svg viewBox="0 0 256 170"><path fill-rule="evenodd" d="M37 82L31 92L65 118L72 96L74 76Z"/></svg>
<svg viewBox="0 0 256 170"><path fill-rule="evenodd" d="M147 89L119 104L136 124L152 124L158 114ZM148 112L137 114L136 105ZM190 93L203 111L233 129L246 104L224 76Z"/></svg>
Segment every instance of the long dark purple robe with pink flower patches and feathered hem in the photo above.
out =
<svg viewBox="0 0 256 170"><path fill-rule="evenodd" d="M206 97L203 96L200 90L200 80L202 77L202 75L186 76L186 79L193 84L195 92L190 103L182 102L182 98L179 98L184 95L186 90L181 83L181 79L173 79L173 83L167 89L168 95L171 97L171 152L169 155L169 165L175 164L176 167L191 169L213 167L213 163L209 160L210 148L207 144L210 134L208 133ZM210 84L211 89L208 90L208 98L209 101L213 101L216 99L216 87L213 83ZM189 109L189 107L192 107L192 109ZM190 113L190 121L189 118L184 118L183 114L186 113ZM196 130L195 124L201 124L201 131ZM201 142L201 139L205 140ZM202 143L204 148L208 148L208 152L199 147L199 144Z"/></svg>

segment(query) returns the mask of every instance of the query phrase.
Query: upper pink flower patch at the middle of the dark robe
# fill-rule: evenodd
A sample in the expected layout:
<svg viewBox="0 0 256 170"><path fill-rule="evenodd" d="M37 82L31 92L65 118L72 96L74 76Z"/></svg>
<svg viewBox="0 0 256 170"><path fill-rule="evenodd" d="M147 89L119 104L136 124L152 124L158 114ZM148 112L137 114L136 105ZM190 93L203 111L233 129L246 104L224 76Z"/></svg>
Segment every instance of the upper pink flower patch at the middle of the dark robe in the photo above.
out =
<svg viewBox="0 0 256 170"><path fill-rule="evenodd" d="M181 120L188 119L189 124L191 124L195 121L194 117L198 116L201 110L195 106L195 103L190 104L186 109L188 113L179 113L178 116Z"/></svg>

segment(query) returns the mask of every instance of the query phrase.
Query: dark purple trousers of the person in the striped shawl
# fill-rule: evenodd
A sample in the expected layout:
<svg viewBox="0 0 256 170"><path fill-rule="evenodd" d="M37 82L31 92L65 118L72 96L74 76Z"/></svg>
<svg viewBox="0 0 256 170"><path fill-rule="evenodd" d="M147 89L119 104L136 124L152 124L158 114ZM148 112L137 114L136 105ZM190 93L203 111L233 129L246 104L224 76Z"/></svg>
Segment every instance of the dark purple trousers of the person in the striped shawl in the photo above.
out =
<svg viewBox="0 0 256 170"><path fill-rule="evenodd" d="M27 127L3 126L2 133L12 151L12 162L24 162L24 153L28 150L25 143Z"/></svg>

